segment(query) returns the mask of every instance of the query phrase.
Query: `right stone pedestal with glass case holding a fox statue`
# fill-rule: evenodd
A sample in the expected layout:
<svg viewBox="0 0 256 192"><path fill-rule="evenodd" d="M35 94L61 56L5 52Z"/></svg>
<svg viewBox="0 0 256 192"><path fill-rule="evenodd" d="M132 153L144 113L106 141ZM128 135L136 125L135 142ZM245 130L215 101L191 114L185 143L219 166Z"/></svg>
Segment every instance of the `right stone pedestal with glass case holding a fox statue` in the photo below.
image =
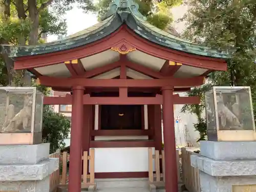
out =
<svg viewBox="0 0 256 192"><path fill-rule="evenodd" d="M201 192L256 191L256 137L250 87L214 87L205 94L207 137L191 155Z"/></svg>

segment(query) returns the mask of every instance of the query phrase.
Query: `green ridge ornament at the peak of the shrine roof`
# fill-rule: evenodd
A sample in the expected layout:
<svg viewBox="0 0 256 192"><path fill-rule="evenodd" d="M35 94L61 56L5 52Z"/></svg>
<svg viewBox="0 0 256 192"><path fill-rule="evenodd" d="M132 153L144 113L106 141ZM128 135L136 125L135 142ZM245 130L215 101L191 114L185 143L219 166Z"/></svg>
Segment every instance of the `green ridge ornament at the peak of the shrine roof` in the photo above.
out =
<svg viewBox="0 0 256 192"><path fill-rule="evenodd" d="M114 0L109 5L108 11L100 17L100 20L109 18L113 14L118 13L121 15L122 12L132 13L134 16L140 19L146 20L146 17L139 12L139 5L134 3L133 0Z"/></svg>

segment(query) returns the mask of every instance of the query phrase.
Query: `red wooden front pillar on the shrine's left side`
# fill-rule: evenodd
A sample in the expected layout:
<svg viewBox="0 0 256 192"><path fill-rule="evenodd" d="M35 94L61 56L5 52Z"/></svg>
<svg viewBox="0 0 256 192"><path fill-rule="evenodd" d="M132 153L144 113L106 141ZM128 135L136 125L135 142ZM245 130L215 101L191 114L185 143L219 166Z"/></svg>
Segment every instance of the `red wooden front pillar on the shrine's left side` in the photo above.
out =
<svg viewBox="0 0 256 192"><path fill-rule="evenodd" d="M72 117L69 164L69 191L81 192L83 91L81 86L72 88Z"/></svg>

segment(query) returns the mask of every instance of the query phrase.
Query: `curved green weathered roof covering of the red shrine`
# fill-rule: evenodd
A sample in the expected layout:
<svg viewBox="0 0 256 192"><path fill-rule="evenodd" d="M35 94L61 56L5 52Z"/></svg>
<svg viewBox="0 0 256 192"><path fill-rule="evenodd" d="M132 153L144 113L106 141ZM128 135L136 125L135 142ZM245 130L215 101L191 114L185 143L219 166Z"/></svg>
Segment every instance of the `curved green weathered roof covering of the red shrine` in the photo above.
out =
<svg viewBox="0 0 256 192"><path fill-rule="evenodd" d="M138 11L138 5L132 0L115 0L110 4L109 11L101 16L99 23L70 35L66 39L36 46L2 46L12 58L57 52L90 44L110 35L123 24L126 24L136 34L155 44L186 53L216 58L230 58L233 51L193 44L154 27L146 22L146 18Z"/></svg>

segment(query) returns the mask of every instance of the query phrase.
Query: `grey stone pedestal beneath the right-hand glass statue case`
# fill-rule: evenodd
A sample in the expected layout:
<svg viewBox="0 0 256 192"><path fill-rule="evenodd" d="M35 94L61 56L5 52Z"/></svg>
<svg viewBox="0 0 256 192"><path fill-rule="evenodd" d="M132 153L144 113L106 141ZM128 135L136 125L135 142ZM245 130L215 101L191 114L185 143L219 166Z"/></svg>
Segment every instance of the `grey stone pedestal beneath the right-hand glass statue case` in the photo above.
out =
<svg viewBox="0 0 256 192"><path fill-rule="evenodd" d="M201 152L191 155L200 170L201 192L251 191L256 188L256 141L201 141Z"/></svg>

